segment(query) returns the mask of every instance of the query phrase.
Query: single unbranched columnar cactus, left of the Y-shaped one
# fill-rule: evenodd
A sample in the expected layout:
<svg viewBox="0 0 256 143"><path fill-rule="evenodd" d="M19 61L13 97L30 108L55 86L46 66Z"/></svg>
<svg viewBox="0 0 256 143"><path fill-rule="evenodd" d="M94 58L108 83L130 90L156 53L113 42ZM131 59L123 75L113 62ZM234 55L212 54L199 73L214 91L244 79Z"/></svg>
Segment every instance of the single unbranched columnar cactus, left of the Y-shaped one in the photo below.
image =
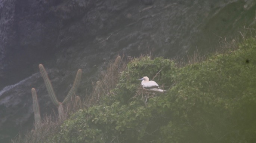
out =
<svg viewBox="0 0 256 143"><path fill-rule="evenodd" d="M34 112L34 118L35 118L35 130L38 129L38 127L41 125L41 116L40 116L40 109L39 104L37 100L37 92L35 88L31 89L32 98L33 98L33 112Z"/></svg>

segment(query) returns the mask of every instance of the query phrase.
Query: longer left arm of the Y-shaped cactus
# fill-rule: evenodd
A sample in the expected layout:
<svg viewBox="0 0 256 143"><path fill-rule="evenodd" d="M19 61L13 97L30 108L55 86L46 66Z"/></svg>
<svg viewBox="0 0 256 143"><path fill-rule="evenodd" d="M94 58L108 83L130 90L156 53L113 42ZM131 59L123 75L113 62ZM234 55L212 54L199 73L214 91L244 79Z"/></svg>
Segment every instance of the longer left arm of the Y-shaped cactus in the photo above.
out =
<svg viewBox="0 0 256 143"><path fill-rule="evenodd" d="M47 91L48 91L48 93L50 95L50 98L51 98L53 104L58 106L59 105L59 101L58 101L58 99L57 99L57 97L55 95L55 92L53 91L52 84L50 82L50 79L49 79L49 77L47 75L46 70L44 69L44 66L42 64L39 64L39 69L40 69L40 73L41 73L41 75L42 75L42 77L44 79L44 84L46 85L46 89L47 89Z"/></svg>

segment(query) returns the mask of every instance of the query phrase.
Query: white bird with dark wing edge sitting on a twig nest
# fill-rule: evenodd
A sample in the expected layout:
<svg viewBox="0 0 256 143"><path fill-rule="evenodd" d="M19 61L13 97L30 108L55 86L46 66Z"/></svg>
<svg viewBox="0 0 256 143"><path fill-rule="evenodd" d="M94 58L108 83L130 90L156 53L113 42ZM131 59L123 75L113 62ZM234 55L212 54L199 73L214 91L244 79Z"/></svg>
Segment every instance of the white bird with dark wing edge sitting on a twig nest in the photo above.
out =
<svg viewBox="0 0 256 143"><path fill-rule="evenodd" d="M158 91L158 92L164 92L165 90L161 90L159 88L159 85L154 81L149 81L148 77L143 77L141 79L141 85L143 89L151 90L151 91Z"/></svg>

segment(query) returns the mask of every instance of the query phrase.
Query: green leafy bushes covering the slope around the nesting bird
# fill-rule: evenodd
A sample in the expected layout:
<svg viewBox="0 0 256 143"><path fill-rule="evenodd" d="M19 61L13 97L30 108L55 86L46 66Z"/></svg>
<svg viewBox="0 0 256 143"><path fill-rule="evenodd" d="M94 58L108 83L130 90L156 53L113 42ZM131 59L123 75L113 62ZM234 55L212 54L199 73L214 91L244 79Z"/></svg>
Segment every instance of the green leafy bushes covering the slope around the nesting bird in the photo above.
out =
<svg viewBox="0 0 256 143"><path fill-rule="evenodd" d="M167 90L148 92L148 76ZM78 110L44 143L254 143L256 40L179 67L132 59L98 104Z"/></svg>

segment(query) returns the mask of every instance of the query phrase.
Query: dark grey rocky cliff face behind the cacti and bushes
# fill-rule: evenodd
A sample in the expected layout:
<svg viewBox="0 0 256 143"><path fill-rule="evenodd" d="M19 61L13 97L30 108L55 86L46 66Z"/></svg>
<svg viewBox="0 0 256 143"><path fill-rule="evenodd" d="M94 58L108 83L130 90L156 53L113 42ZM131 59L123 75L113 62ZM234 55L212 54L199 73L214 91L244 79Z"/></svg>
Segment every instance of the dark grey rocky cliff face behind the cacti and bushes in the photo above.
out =
<svg viewBox="0 0 256 143"><path fill-rule="evenodd" d="M0 139L33 124L32 87L42 114L55 108L39 63L60 101L81 68L78 94L85 96L117 54L172 58L195 47L207 51L216 35L253 24L254 14L250 0L0 0Z"/></svg>

